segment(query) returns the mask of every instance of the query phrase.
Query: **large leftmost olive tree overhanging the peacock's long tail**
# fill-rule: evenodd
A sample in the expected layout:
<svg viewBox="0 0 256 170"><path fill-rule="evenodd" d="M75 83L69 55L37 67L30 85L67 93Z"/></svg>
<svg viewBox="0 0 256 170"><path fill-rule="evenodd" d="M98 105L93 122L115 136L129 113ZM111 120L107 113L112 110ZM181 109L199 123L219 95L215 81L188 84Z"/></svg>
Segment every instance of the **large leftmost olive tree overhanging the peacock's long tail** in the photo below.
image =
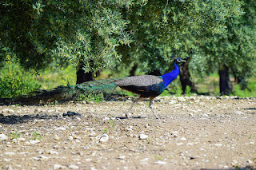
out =
<svg viewBox="0 0 256 170"><path fill-rule="evenodd" d="M26 68L42 69L58 58L85 72L111 65L120 58L116 47L131 41L121 10L132 1L4 1L0 3L0 41Z"/></svg>

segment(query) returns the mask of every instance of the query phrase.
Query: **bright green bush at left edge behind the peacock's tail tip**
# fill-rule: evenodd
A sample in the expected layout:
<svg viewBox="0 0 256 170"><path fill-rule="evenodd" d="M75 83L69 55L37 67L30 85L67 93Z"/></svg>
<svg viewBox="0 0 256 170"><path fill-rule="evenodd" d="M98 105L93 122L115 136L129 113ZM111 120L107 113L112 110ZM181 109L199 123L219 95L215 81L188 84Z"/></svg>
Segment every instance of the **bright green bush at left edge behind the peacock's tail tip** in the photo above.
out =
<svg viewBox="0 0 256 170"><path fill-rule="evenodd" d="M0 71L0 97L18 97L40 87L35 75L25 72L15 55L6 55L5 66Z"/></svg>

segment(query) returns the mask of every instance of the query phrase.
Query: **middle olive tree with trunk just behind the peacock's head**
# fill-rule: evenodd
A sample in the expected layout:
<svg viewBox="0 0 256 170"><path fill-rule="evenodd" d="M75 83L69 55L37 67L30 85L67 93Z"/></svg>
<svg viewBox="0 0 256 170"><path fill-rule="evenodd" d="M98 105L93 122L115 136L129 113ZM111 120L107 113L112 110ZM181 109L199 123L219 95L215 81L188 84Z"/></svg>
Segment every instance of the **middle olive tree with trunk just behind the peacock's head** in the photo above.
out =
<svg viewBox="0 0 256 170"><path fill-rule="evenodd" d="M172 69L170 56L190 58L213 34L226 32L226 19L241 14L234 1L143 1L124 13L133 35L131 48L119 51L134 57L148 72ZM190 61L190 60L188 60ZM181 68L182 89L190 85L189 63Z"/></svg>

